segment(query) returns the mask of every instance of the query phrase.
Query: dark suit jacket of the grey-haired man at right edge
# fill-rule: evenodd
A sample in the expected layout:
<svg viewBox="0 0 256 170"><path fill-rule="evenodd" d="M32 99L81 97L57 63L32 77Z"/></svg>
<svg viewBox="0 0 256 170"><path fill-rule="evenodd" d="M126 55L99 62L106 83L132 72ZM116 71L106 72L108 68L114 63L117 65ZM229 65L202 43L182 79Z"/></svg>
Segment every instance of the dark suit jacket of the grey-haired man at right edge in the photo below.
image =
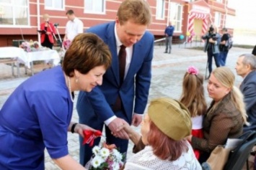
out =
<svg viewBox="0 0 256 170"><path fill-rule="evenodd" d="M247 121L251 126L244 126L244 131L256 131L256 71L250 72L242 81L240 90L244 94Z"/></svg>

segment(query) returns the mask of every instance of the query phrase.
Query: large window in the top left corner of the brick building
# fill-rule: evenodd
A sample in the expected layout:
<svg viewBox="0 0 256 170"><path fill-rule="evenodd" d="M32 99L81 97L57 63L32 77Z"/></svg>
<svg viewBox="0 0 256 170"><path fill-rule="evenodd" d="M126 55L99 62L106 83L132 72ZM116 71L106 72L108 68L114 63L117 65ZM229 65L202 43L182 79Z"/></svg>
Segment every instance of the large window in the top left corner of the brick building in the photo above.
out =
<svg viewBox="0 0 256 170"><path fill-rule="evenodd" d="M28 0L0 0L0 25L28 26L28 6Z"/></svg>

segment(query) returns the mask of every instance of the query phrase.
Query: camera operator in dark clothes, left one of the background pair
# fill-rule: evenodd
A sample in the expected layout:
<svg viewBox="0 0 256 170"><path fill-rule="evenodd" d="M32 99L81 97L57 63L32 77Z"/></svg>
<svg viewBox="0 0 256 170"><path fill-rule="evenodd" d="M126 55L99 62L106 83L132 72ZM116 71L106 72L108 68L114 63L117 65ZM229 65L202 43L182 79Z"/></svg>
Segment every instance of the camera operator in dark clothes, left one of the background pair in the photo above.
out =
<svg viewBox="0 0 256 170"><path fill-rule="evenodd" d="M221 35L217 32L216 27L211 25L211 27L209 27L208 29L208 32L206 32L206 34L202 36L202 39L206 39L205 47L203 51L207 52L207 57L208 57L207 63L208 63L209 75L208 77L206 77L206 80L207 80L211 75L213 57L214 57L216 67L220 66L219 65L219 44L221 42Z"/></svg>

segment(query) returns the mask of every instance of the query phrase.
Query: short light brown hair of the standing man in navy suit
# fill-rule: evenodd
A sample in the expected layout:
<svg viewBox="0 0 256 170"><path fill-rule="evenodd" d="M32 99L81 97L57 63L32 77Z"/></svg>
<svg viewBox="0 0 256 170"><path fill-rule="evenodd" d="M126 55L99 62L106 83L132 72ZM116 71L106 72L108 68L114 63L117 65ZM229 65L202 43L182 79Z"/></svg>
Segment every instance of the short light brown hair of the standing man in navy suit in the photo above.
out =
<svg viewBox="0 0 256 170"><path fill-rule="evenodd" d="M125 0L118 9L120 24L129 19L136 24L149 25L151 23L151 9L144 0Z"/></svg>

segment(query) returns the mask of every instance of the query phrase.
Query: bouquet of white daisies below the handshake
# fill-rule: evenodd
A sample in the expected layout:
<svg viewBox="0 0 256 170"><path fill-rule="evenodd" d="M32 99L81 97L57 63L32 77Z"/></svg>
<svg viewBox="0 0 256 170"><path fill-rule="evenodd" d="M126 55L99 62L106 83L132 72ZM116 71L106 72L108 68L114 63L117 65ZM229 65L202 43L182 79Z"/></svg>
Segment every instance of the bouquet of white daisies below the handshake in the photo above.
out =
<svg viewBox="0 0 256 170"><path fill-rule="evenodd" d="M120 154L114 144L94 146L92 152L92 159L85 166L89 170L119 170L123 166L125 155Z"/></svg>

